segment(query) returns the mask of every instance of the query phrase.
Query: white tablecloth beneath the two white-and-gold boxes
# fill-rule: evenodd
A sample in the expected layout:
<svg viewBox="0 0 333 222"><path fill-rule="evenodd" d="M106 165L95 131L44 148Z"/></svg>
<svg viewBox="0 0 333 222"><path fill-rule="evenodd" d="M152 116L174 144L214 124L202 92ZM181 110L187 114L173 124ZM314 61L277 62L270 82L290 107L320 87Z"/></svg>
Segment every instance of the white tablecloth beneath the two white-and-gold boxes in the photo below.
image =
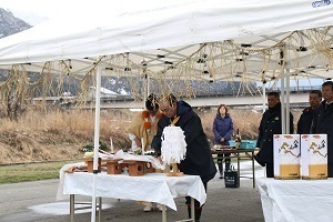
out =
<svg viewBox="0 0 333 222"><path fill-rule="evenodd" d="M256 179L266 222L332 222L333 180Z"/></svg>

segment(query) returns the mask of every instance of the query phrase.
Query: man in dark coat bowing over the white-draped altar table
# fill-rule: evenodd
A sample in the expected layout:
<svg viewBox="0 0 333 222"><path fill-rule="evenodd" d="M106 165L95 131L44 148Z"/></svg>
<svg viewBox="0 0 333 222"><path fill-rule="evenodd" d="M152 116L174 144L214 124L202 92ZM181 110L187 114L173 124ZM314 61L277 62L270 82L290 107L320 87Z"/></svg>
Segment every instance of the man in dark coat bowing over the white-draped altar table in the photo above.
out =
<svg viewBox="0 0 333 222"><path fill-rule="evenodd" d="M184 101L176 101L173 94L162 95L159 99L160 110L163 115L158 123L158 133L153 138L151 147L161 154L161 135L163 129L170 124L180 127L184 131L186 157L179 164L179 170L185 174L200 175L206 190L208 182L216 174L216 168L212 158L211 149L199 115L191 105ZM191 215L191 201L186 196L189 218ZM202 206L195 200L195 221L200 221Z"/></svg>

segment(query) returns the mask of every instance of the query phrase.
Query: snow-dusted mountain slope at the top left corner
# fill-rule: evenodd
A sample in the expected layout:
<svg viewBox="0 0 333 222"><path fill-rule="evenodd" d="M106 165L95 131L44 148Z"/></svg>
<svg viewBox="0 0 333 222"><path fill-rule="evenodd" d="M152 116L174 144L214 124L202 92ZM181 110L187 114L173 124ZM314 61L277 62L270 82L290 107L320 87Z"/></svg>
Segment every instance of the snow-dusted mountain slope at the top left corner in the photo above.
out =
<svg viewBox="0 0 333 222"><path fill-rule="evenodd" d="M0 39L30 28L29 23L16 18L10 11L0 8Z"/></svg>

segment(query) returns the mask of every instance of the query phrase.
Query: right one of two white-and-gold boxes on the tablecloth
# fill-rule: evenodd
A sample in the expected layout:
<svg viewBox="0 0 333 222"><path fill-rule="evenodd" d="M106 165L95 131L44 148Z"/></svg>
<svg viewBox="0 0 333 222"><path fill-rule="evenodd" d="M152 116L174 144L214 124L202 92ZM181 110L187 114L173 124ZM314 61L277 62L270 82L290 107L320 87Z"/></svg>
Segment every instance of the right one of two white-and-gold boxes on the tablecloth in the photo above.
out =
<svg viewBox="0 0 333 222"><path fill-rule="evenodd" d="M327 135L301 135L302 179L327 179Z"/></svg>

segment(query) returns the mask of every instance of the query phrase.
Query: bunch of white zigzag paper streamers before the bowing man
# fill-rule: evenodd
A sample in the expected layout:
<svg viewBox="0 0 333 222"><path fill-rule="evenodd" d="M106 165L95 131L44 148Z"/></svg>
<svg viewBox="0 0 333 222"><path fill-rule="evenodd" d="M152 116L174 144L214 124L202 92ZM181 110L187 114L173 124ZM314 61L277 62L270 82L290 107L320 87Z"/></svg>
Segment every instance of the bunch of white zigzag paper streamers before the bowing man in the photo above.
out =
<svg viewBox="0 0 333 222"><path fill-rule="evenodd" d="M162 133L162 160L168 164L180 163L186 155L184 131L180 127L167 127Z"/></svg>

